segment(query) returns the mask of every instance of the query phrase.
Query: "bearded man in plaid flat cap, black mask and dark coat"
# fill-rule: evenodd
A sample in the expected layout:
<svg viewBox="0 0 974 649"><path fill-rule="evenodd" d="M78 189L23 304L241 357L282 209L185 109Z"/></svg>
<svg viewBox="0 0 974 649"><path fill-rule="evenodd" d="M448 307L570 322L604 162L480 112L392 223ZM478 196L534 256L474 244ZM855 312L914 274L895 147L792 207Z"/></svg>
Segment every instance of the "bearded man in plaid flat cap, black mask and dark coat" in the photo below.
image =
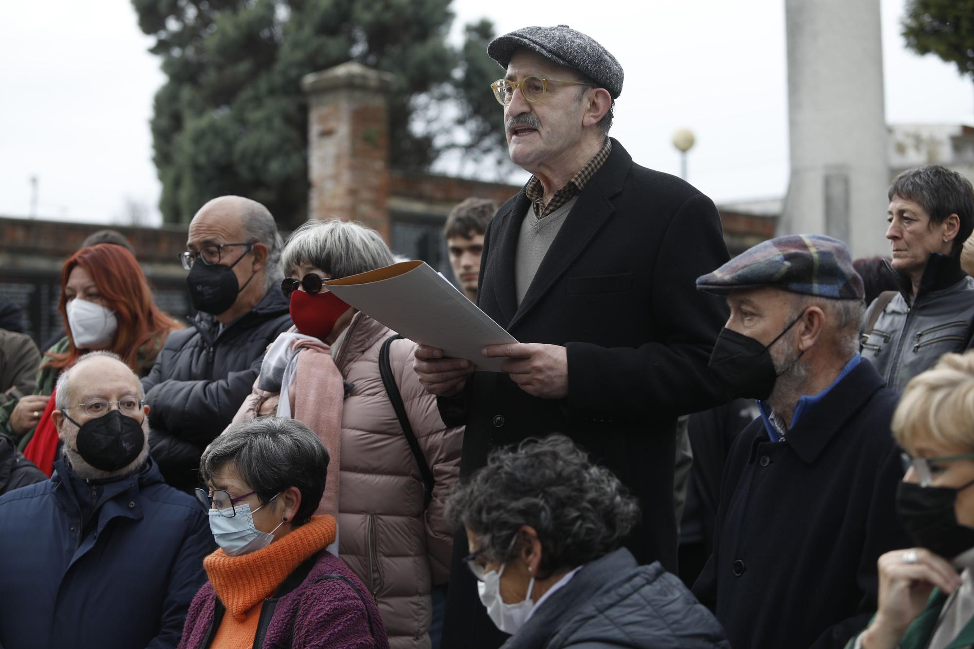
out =
<svg viewBox="0 0 974 649"><path fill-rule="evenodd" d="M896 394L856 351L862 279L842 242L793 235L696 286L731 307L710 370L761 417L731 446L693 593L734 647L842 647L876 610L880 554L909 545Z"/></svg>

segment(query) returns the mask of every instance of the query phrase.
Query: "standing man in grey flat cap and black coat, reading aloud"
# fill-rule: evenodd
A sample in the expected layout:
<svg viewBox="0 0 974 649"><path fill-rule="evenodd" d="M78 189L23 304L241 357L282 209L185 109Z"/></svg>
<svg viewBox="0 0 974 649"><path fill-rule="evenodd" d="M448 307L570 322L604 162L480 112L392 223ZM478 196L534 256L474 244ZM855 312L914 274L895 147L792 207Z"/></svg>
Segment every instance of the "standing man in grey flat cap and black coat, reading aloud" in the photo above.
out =
<svg viewBox="0 0 974 649"><path fill-rule="evenodd" d="M565 25L526 27L487 52L506 68L491 88L510 158L533 175L487 227L477 304L522 342L485 350L506 358L502 373L429 347L416 371L444 421L467 425L462 477L495 447L564 433L639 499L626 547L675 572L676 420L725 401L707 360L726 311L693 286L728 259L720 216L608 137L622 67L593 39ZM458 535L443 646L497 647L504 636L463 568L467 547ZM527 579L513 572L501 592Z"/></svg>

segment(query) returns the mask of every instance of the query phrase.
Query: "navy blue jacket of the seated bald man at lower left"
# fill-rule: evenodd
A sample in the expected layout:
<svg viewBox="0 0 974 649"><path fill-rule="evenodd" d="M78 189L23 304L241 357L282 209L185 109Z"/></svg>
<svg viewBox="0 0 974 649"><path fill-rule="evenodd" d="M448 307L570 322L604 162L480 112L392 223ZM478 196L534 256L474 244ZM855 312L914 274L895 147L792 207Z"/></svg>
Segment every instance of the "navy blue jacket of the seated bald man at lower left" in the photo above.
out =
<svg viewBox="0 0 974 649"><path fill-rule="evenodd" d="M175 647L215 547L199 504L151 459L114 481L55 469L0 497L0 647Z"/></svg>

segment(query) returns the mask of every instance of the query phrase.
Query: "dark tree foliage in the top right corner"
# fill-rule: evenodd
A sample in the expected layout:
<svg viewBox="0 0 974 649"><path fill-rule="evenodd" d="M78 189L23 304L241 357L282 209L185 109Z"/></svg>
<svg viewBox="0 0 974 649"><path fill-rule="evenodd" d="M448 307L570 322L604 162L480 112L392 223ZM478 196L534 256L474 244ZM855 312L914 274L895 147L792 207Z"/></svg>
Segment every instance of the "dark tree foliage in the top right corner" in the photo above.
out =
<svg viewBox="0 0 974 649"><path fill-rule="evenodd" d="M974 0L910 0L903 36L917 54L935 54L974 79Z"/></svg>

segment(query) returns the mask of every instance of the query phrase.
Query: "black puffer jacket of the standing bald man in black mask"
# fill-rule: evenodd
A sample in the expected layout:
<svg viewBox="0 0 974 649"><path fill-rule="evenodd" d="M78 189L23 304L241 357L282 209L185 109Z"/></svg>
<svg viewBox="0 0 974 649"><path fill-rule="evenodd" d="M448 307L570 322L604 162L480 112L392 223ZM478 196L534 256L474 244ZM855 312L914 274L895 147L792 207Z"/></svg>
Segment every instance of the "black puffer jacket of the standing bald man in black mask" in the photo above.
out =
<svg viewBox="0 0 974 649"><path fill-rule="evenodd" d="M268 290L252 311L219 331L212 316L169 334L156 364L142 379L149 411L152 457L172 486L200 486L200 455L223 432L260 373L267 346L291 325L287 299Z"/></svg>

